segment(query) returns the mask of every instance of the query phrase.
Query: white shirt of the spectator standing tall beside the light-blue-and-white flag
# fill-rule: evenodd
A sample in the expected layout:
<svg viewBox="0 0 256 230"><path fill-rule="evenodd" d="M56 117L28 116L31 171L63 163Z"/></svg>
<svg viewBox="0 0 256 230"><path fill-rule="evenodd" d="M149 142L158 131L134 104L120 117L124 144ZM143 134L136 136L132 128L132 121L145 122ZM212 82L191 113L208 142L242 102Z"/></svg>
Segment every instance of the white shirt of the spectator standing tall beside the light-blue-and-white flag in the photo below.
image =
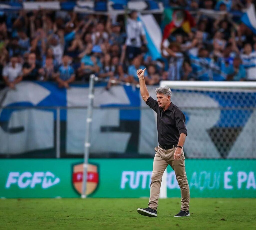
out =
<svg viewBox="0 0 256 230"><path fill-rule="evenodd" d="M141 35L145 35L142 23L140 21L127 19L126 26L127 39L125 44L128 46L141 47Z"/></svg>

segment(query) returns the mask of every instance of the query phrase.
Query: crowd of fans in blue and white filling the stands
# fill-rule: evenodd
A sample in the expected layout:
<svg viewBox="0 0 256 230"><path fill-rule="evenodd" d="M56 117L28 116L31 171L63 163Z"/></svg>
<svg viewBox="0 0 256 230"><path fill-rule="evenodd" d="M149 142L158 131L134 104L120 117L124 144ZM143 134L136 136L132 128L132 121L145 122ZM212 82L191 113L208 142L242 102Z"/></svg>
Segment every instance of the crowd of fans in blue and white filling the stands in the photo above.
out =
<svg viewBox="0 0 256 230"><path fill-rule="evenodd" d="M150 85L160 80L256 80L256 35L229 14L252 2L168 1L170 7L189 10L196 26L189 33L172 33L168 46L161 43L157 60L147 49L136 11L116 21L111 15L73 11L0 12L1 77L13 89L22 80L56 81L69 88L73 81L88 82L92 73L106 79L108 88L112 79L136 84L139 68L147 68ZM226 13L213 19L199 8Z"/></svg>

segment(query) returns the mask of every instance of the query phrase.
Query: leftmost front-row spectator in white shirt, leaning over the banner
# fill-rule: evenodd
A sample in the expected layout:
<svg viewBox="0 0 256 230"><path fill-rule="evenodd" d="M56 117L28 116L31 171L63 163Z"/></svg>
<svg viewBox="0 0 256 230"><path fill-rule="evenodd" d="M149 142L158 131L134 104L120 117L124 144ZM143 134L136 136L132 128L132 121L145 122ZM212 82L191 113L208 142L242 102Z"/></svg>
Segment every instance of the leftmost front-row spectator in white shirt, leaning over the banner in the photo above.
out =
<svg viewBox="0 0 256 230"><path fill-rule="evenodd" d="M12 56L10 62L3 69L3 79L5 84L11 89L22 80L22 65L18 63L18 58Z"/></svg>

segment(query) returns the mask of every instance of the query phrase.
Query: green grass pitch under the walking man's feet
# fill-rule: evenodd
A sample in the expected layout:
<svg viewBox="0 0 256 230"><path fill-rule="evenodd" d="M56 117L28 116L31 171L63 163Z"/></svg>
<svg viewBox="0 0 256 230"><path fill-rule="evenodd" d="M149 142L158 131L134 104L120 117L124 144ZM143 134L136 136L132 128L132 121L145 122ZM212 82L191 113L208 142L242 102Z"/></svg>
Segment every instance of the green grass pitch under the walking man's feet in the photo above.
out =
<svg viewBox="0 0 256 230"><path fill-rule="evenodd" d="M190 217L173 217L180 199L159 201L157 218L137 208L148 199L0 200L0 229L255 229L256 199L193 198Z"/></svg>

